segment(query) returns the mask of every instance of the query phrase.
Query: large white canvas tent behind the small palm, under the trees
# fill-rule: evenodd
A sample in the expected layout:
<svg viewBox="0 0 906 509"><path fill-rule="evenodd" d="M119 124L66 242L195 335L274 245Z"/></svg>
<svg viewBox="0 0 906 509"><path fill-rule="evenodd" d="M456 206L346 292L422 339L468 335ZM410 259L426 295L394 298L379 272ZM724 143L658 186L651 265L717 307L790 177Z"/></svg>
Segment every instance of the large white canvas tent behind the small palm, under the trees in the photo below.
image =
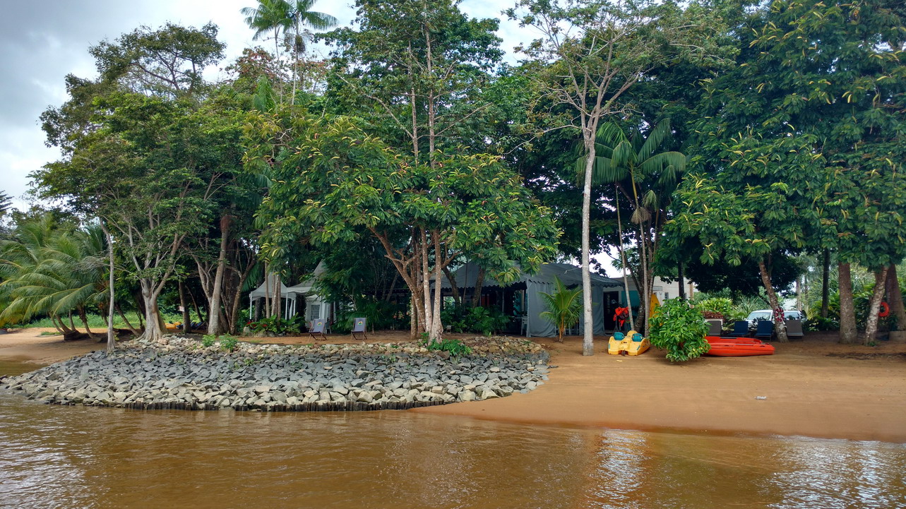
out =
<svg viewBox="0 0 906 509"><path fill-rule="evenodd" d="M469 262L459 267L454 277L456 278L457 287L460 291L473 290L477 283L478 266ZM523 274L518 281L512 284L525 283L525 335L553 337L557 335L554 324L541 317L541 313L547 311L541 295L538 293L554 292L554 277L560 278L566 286L582 286L582 267L571 264L543 264L538 274ZM497 283L489 275L485 277L482 283L483 289L488 288L506 288L509 285ZM609 277L592 274L592 318L594 322L594 333L604 333L604 292L605 289L622 290L622 282ZM451 286L445 277L440 286L443 290L450 290ZM585 323L582 318L578 324L578 331L584 331Z"/></svg>

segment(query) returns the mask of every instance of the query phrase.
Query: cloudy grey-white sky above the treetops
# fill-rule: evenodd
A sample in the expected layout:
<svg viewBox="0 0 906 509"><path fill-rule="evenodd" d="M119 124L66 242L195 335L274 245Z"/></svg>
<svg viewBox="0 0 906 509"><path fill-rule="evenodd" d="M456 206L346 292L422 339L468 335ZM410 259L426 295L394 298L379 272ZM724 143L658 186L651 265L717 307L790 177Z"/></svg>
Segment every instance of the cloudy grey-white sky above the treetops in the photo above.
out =
<svg viewBox="0 0 906 509"><path fill-rule="evenodd" d="M388 0L392 1L392 0ZM513 0L465 0L463 12L472 17L500 17ZM24 194L28 174L59 157L44 147L38 116L50 105L66 101L63 78L72 73L95 77L88 47L113 40L146 24L166 22L201 26L217 24L230 62L253 42L239 9L255 0L26 0L4 2L0 16L0 191L14 206L28 206ZM342 25L352 22L352 2L320 0L314 10L336 16ZM532 34L504 21L498 35L511 53L513 46ZM269 47L269 46L265 46ZM513 61L509 55L507 60ZM216 72L215 72L216 75Z"/></svg>

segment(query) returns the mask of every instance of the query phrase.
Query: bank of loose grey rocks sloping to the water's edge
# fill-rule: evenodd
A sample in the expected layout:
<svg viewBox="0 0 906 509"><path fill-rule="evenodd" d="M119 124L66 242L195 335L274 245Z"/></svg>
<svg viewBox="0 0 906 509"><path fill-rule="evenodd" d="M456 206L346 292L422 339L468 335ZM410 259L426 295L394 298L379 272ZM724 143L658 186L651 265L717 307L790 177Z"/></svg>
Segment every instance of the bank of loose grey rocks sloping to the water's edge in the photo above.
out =
<svg viewBox="0 0 906 509"><path fill-rule="evenodd" d="M501 398L547 379L548 354L531 341L480 338L476 346L453 356L410 343L240 342L228 352L169 336L0 379L0 389L60 405L373 410Z"/></svg>

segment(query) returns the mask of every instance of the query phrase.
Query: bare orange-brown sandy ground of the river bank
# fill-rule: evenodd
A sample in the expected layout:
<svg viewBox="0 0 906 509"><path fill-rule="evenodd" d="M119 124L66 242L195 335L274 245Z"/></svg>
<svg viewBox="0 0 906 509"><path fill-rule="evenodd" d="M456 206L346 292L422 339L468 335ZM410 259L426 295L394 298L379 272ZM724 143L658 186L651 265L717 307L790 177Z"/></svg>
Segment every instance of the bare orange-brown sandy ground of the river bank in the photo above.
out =
<svg viewBox="0 0 906 509"><path fill-rule="evenodd" d="M104 348L102 342L39 336L41 331L53 330L0 334L0 360L46 364ZM353 342L349 335L242 339ZM368 341L408 341L408 333L370 333ZM906 342L843 345L836 333L809 333L805 341L775 343L772 356L674 364L654 349L639 357L608 355L604 337L595 339L592 357L582 355L579 337L533 341L558 366L542 387L410 411L547 425L906 442Z"/></svg>

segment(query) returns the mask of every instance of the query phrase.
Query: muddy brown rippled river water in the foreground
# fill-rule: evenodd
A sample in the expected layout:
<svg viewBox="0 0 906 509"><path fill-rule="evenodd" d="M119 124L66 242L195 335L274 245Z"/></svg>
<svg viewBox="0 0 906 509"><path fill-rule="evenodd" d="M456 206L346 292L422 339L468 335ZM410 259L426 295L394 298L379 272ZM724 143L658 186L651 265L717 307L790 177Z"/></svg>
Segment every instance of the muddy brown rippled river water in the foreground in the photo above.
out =
<svg viewBox="0 0 906 509"><path fill-rule="evenodd" d="M906 507L906 445L0 394L0 507L886 509Z"/></svg>

